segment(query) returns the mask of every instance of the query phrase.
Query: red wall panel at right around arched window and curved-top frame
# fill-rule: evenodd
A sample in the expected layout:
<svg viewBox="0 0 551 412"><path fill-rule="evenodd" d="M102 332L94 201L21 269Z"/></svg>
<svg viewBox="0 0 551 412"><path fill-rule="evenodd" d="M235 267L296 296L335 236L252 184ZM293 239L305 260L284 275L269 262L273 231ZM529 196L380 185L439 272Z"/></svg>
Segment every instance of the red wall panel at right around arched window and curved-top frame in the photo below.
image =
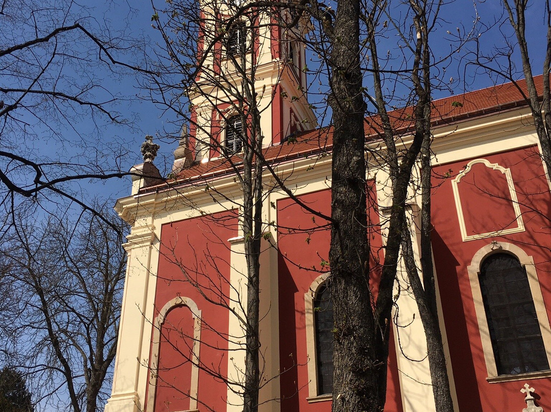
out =
<svg viewBox="0 0 551 412"><path fill-rule="evenodd" d="M451 181L471 159L434 167L433 245L436 274L460 410L498 412L503 410L504 405L507 405L507 410L522 410L526 404L520 389L526 382L525 378L500 383L488 383L486 380L488 372L467 267L474 254L493 241L508 242L522 248L534 259L549 312L551 196L537 147L504 151L483 158L510 169L526 230L505 236L463 241ZM499 180L499 176L480 167L476 170L477 173L466 180L471 182L471 187L464 193L460 192L463 208L468 209L464 210L464 213L467 212L467 235L493 231L511 223L510 202L504 204L502 197L506 196L501 196L504 194L503 182L491 185L493 178L497 176ZM492 179L489 180L488 176L492 176ZM549 379L532 380L530 384L538 393L551 393ZM540 405L544 410L551 409L551 399L542 399Z"/></svg>

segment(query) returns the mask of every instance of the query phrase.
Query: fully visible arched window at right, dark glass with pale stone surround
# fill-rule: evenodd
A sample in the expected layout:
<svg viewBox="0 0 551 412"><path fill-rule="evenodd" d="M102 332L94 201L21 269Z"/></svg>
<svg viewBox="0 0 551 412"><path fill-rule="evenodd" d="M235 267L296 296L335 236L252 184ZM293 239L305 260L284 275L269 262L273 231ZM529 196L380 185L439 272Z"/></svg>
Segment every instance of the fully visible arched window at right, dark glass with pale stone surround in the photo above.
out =
<svg viewBox="0 0 551 412"><path fill-rule="evenodd" d="M532 257L494 241L467 269L488 381L551 374L551 330Z"/></svg>

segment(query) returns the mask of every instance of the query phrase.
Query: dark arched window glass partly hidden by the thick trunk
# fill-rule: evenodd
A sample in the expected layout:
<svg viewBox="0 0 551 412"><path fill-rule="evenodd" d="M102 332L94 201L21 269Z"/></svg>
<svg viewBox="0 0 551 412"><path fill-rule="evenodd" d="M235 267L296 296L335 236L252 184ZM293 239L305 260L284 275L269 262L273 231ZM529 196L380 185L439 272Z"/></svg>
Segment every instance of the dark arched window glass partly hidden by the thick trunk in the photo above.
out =
<svg viewBox="0 0 551 412"><path fill-rule="evenodd" d="M322 285L314 299L316 330L317 393L333 392L333 303Z"/></svg>

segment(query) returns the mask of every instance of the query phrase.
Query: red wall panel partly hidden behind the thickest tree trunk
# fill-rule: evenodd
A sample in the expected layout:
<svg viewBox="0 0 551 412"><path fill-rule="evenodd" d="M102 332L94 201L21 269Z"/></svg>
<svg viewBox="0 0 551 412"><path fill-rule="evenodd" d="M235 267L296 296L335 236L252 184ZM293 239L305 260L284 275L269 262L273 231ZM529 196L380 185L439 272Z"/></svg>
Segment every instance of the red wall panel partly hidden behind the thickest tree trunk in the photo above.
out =
<svg viewBox="0 0 551 412"><path fill-rule="evenodd" d="M301 202L322 214L331 214L331 191L314 192L300 196ZM370 218L376 221L374 209ZM304 295L312 281L329 268L328 262L331 230L327 221L314 216L291 199L277 202L279 248L279 349L282 376L282 411L324 412L331 410L331 401L308 403L305 302ZM377 233L371 236L375 254L380 251L381 239ZM385 411L402 411L399 392L398 369L393 340L390 343L388 365L387 400Z"/></svg>

